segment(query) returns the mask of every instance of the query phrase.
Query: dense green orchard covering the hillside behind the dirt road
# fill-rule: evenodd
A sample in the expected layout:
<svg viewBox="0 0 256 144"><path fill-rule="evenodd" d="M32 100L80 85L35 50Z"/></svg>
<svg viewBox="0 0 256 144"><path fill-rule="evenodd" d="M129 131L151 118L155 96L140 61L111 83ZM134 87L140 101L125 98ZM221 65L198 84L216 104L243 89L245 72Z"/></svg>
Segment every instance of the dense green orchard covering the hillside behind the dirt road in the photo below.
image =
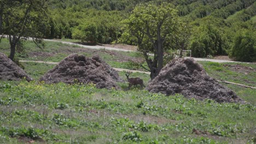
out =
<svg viewBox="0 0 256 144"><path fill-rule="evenodd" d="M194 57L229 55L256 61L255 0L49 0L38 33L48 39L137 45L126 33L125 20L136 6L150 2L172 4L182 22L177 25L186 27L179 28L168 49L181 49L175 40L186 37L182 49L192 50Z"/></svg>

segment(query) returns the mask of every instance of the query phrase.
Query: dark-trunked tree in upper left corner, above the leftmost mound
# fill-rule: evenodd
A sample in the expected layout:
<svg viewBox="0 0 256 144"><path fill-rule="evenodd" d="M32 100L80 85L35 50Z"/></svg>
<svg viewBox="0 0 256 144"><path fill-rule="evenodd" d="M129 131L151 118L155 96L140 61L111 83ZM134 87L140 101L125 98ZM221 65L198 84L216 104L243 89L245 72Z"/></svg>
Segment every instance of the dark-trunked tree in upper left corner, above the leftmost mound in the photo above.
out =
<svg viewBox="0 0 256 144"><path fill-rule="evenodd" d="M39 46L38 39L47 32L45 24L48 0L2 0L0 3L1 34L7 34L10 43L10 59L14 59L16 45L21 38L33 37Z"/></svg>

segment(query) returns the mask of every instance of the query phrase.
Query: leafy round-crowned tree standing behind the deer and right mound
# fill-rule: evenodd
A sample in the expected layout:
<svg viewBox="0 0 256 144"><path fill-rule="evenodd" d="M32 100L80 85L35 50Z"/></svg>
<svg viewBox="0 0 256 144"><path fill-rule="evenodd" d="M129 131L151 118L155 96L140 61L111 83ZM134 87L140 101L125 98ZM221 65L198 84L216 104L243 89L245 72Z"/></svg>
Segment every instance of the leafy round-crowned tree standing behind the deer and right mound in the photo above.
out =
<svg viewBox="0 0 256 144"><path fill-rule="evenodd" d="M164 64L164 52L170 47L172 34L176 33L177 10L172 4L153 2L138 5L125 20L125 34L136 38L138 50L143 52L149 67L150 77L154 79ZM153 59L148 52L154 53Z"/></svg>

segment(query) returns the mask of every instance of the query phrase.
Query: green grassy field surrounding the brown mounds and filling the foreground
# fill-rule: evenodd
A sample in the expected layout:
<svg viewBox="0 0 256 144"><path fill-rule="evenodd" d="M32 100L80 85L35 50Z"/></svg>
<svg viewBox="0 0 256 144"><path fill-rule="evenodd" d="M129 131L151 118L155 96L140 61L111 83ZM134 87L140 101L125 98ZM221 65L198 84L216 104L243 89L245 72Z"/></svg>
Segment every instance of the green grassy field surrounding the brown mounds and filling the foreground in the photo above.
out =
<svg viewBox="0 0 256 144"><path fill-rule="evenodd" d="M59 43L46 45L53 46L53 49L46 48L48 54L61 55L65 54L63 50L80 49ZM34 47L31 49L30 52L39 52ZM8 53L3 47L0 51ZM62 56L48 54L43 58L61 60ZM107 62L112 55L102 52ZM117 57L115 61L120 62L115 66L119 68L123 62L129 62L129 59L121 61L122 56L136 59L139 54L124 53ZM255 64L200 64L216 79L256 86ZM166 97L138 88L127 91L127 83L118 83L122 91L97 89L94 85L46 85L38 79L54 65L24 63L24 67L35 81L0 81L0 143L256 142L255 89L224 84L247 104L219 104L213 100L186 99L179 94ZM124 72L119 74L125 79ZM141 77L146 85L149 80L147 74L131 76Z"/></svg>

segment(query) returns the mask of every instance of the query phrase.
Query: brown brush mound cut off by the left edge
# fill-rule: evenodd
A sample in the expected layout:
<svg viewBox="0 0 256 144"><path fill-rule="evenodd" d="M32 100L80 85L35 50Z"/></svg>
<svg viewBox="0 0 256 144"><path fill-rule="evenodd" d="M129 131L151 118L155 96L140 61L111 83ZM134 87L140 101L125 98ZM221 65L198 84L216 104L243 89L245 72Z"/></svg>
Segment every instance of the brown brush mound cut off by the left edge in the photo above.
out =
<svg viewBox="0 0 256 144"><path fill-rule="evenodd" d="M32 80L22 68L0 52L0 80L19 81L24 78Z"/></svg>

